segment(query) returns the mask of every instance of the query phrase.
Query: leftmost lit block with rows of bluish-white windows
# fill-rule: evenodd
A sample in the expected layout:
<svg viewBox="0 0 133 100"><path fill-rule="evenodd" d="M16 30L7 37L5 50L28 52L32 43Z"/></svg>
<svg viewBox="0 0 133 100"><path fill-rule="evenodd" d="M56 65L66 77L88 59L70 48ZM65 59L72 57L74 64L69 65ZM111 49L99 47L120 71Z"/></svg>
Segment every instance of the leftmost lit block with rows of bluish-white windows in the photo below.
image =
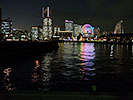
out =
<svg viewBox="0 0 133 100"><path fill-rule="evenodd" d="M9 35L12 32L12 21L10 18L2 20L1 31L4 35Z"/></svg>

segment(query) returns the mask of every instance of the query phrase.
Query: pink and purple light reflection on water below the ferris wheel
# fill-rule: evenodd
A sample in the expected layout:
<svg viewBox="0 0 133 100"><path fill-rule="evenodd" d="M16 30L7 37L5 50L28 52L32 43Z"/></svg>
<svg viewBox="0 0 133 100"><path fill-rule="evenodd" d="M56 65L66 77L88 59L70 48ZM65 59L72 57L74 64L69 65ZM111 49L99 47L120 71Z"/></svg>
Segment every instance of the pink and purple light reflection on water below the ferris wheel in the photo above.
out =
<svg viewBox="0 0 133 100"><path fill-rule="evenodd" d="M95 76L96 68L93 67L95 60L95 47L94 43L83 43L81 44L81 63L82 73L86 75L85 80L91 80L90 77Z"/></svg>

